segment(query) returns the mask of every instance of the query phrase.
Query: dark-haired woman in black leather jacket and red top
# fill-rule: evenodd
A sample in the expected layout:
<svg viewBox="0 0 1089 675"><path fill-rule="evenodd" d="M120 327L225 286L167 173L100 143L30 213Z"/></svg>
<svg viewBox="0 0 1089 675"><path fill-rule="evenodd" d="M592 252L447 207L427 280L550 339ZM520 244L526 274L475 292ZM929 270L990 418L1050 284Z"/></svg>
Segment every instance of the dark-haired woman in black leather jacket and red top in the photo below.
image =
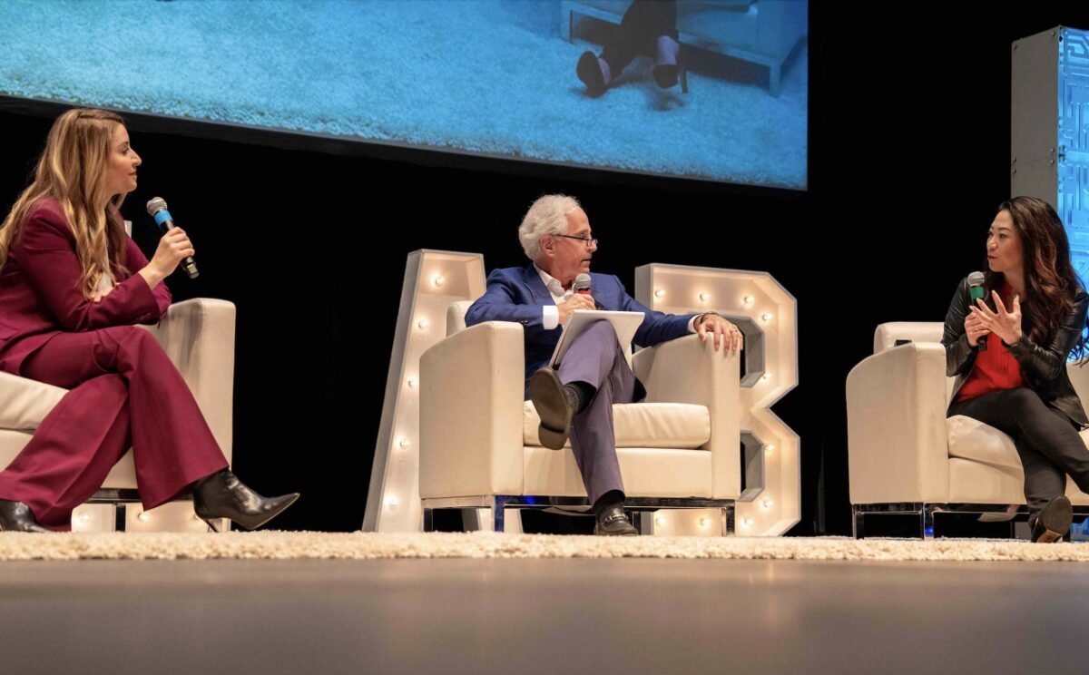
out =
<svg viewBox="0 0 1089 675"><path fill-rule="evenodd" d="M947 416L967 415L1010 434L1025 469L1032 541L1056 541L1070 527L1068 474L1089 492L1089 427L1066 375L1085 359L1089 295L1070 265L1063 223L1035 197L999 207L987 236L983 299L960 282L942 344L956 376ZM984 302L986 300L986 302Z"/></svg>

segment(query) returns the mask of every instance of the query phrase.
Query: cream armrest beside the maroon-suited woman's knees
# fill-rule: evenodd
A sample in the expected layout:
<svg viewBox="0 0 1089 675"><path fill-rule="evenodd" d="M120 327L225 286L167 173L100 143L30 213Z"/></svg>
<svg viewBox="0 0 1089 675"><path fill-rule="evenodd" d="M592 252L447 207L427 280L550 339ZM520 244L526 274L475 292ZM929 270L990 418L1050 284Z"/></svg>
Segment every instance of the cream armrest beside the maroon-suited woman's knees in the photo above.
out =
<svg viewBox="0 0 1089 675"><path fill-rule="evenodd" d="M145 326L189 385L220 450L231 461L234 414L234 304L198 297L171 305Z"/></svg>

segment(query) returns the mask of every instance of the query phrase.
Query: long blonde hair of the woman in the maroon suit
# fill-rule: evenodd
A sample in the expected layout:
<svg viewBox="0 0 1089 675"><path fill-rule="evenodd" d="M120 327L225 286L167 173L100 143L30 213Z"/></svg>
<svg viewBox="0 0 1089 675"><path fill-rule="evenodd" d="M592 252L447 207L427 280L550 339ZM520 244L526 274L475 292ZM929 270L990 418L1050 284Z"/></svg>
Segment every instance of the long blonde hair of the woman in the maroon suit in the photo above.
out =
<svg viewBox="0 0 1089 675"><path fill-rule="evenodd" d="M123 259L126 234L117 214L125 195L108 194L110 143L119 124L124 126L124 120L107 110L77 108L57 118L49 130L34 181L0 225L0 269L7 265L8 251L30 209L39 199L53 197L64 210L75 236L75 251L83 268L84 296L89 298L103 277L112 279L111 262L127 273ZM109 258L111 243L113 260Z"/></svg>

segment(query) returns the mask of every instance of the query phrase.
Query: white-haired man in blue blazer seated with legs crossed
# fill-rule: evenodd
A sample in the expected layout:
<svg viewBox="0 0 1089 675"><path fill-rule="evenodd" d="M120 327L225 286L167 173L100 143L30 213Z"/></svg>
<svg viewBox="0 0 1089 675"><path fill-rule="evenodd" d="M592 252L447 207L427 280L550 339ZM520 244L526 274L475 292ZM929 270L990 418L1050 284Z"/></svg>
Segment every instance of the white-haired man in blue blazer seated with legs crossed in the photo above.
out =
<svg viewBox="0 0 1089 675"><path fill-rule="evenodd" d="M590 273L598 249L578 201L565 195L537 199L518 228L522 248L533 262L493 270L488 289L473 303L465 323L516 321L523 326L526 398L540 416L541 444L571 447L597 518L598 535L636 535L624 514L624 484L613 437L613 403L641 401L646 390L627 365L625 351L608 321L597 321L571 344L558 370L549 368L556 342L576 309L639 311L645 315L635 343L650 346L690 333L711 340L723 353L742 348L736 326L714 312L668 315L648 309L612 274ZM589 274L592 295L575 293L578 274Z"/></svg>

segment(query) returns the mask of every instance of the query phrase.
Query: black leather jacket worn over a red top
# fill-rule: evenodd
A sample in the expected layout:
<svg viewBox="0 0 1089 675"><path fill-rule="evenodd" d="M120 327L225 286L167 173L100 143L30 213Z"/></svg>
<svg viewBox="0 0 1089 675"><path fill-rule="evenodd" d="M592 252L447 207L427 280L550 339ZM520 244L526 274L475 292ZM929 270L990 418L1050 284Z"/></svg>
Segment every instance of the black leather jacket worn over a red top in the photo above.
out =
<svg viewBox="0 0 1089 675"><path fill-rule="evenodd" d="M968 344L968 336L964 331L964 318L971 304L971 291L968 287L968 279L965 278L953 294L950 310L945 314L945 329L942 334L942 344L945 345L945 375L956 376L950 408L953 407L957 392L960 391L976 364L978 348ZM1007 345L1010 353L1020 365L1025 382L1045 404L1065 414L1082 429L1089 427L1089 418L1086 417L1081 401L1070 384L1069 376L1066 375L1066 358L1081 336L1081 331L1085 330L1087 307L1089 307L1089 295L1079 287L1077 295L1074 296L1074 310L1059 326L1051 344L1038 345L1025 335L1017 344ZM998 335L988 338L988 340L998 339Z"/></svg>

